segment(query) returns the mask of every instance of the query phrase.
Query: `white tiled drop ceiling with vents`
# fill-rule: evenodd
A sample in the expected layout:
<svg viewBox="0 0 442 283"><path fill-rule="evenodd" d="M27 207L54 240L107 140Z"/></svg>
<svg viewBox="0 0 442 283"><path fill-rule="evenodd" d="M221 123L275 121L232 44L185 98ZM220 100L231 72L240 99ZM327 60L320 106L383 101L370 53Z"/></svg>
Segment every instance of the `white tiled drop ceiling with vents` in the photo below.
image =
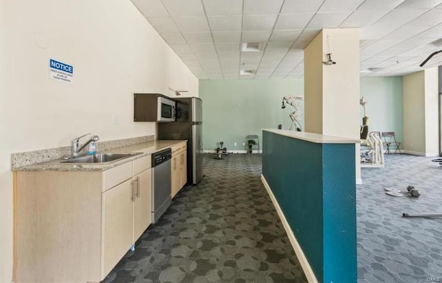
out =
<svg viewBox="0 0 442 283"><path fill-rule="evenodd" d="M361 28L361 76L423 70L442 49L442 0L131 0L200 79L300 78L322 28ZM241 52L240 43L262 43ZM442 65L442 53L426 67ZM256 70L240 75L240 70Z"/></svg>

